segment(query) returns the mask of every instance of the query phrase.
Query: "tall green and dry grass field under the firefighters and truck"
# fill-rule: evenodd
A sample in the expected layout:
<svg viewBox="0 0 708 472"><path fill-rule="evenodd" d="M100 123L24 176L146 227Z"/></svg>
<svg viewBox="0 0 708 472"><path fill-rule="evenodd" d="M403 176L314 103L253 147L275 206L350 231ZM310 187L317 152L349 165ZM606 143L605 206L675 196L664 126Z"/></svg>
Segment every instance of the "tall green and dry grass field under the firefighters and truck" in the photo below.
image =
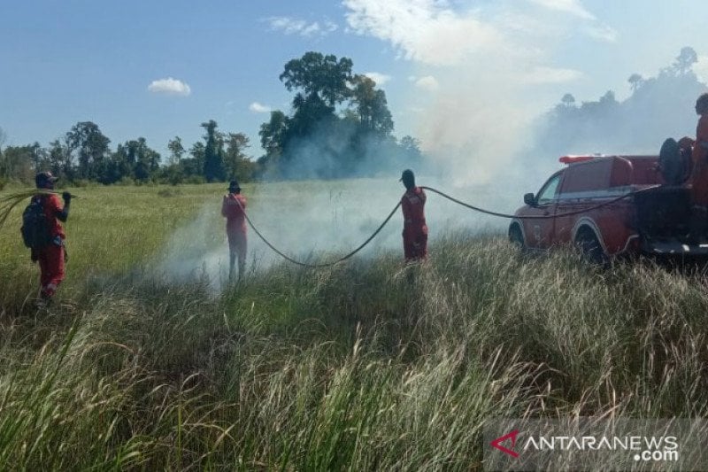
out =
<svg viewBox="0 0 708 472"><path fill-rule="evenodd" d="M276 238L258 208L286 219L318 194L308 211L336 235L334 185L244 193ZM225 290L170 277L175 252L222 251L221 187L76 189L49 313L29 303L37 268L18 228L0 229L5 468L476 470L494 418L708 415L701 276L520 259L502 233L460 225L411 267L381 244L319 271L262 260Z"/></svg>

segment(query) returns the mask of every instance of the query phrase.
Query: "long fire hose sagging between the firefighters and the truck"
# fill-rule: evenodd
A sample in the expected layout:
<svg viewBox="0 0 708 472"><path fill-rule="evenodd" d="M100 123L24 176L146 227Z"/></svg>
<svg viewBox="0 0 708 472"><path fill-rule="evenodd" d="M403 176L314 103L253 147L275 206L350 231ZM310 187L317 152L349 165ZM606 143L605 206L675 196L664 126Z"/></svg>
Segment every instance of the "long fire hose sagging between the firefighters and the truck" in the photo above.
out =
<svg viewBox="0 0 708 472"><path fill-rule="evenodd" d="M461 201L461 200L458 200L458 199L455 198L455 197L450 197L450 195L444 193L443 191L433 189L432 187L424 187L424 186L421 186L420 188L421 188L421 189L424 189L424 190L430 190L431 192L436 193L436 194L440 195L441 197L447 198L448 200L450 200L450 201L453 202L453 203L456 203L456 204L458 204L458 205L462 205L462 206L464 206L464 207L466 207L466 208L469 208L470 210L474 210L475 212L484 213L484 214L489 214L489 215L497 216L497 217L500 217L500 218L515 218L515 219L519 219L519 220L545 220L545 219L549 219L549 218L561 218L561 217L564 217L564 216L572 216L572 215L575 215L575 214L587 213L587 212L590 212L590 211L593 211L593 210L597 210L598 208L602 208L602 207L607 206L607 205L612 205L613 203L617 203L617 202L619 202L620 200L624 200L625 198L628 198L628 197L633 197L633 196L635 196L635 195L637 195L637 194L646 192L646 191L648 191L648 190L657 189L658 187L660 187L660 185L653 185L653 186L651 186L651 187L647 187L647 188L644 188L644 189L632 190L632 191L630 191L630 192L627 192L627 193L624 194L624 195L620 195L619 197L612 198L611 200L608 200L608 201L606 201L606 202L603 202L603 203L600 203L600 204L597 204L597 205L593 205L593 206L589 206L588 208L583 208L583 209L581 209L581 210L576 210L576 211L573 211L573 212L559 213L559 214L549 214L549 215L527 215L527 216L519 216L519 215L513 215L513 214L509 214L509 213L492 212L492 211L490 211L490 210L485 210L484 208L480 208L479 206L474 206L474 205L467 204L467 203L465 203L465 202L463 202L463 201ZM350 259L350 258L351 258L352 256L354 256L356 253L358 253L358 251L361 251L362 249L364 249L367 244L371 243L371 241L373 240L373 238L376 237L376 236L381 232L381 229L383 229L383 228L389 223L389 221L390 221L391 218L393 217L394 213L396 213L396 210L398 210L398 207L401 205L401 202L398 202L398 203L396 204L396 206L394 206L393 210L391 210L391 213L389 213L389 216L387 216L386 219L381 223L381 225L379 226L379 228L376 228L376 230L373 232L373 234L372 234L371 236L369 236L368 238L366 238L366 241L365 241L364 243L360 244L355 250L350 251L348 254L342 256L341 258L332 260L332 261L330 261L330 262L323 262L323 263L319 263L319 264L309 264L309 263L307 263L307 262L303 262L303 261L300 261L300 260L297 260L297 259L293 259L293 258L289 257L287 254L285 254L283 251L281 251L281 250L279 250L278 248L276 248L270 241L268 241L268 239L266 238L266 236L263 236L263 235L261 234L261 232L258 231L258 228L256 228L256 225L253 224L253 221L250 221L250 218L249 218L248 213L246 213L245 209L242 207L241 202L239 202L238 199L236 199L236 203L239 205L239 208L241 208L241 210L242 210L242 212L243 212L243 216L246 218L246 221L248 221L250 228L253 229L253 231L254 231L254 232L258 235L258 237L266 244L266 246L268 246L268 247L271 248L271 250L273 250L276 254L278 254L279 256L281 256L281 258L286 259L286 260L288 260L289 262L292 262L293 264L296 264L297 266L308 267L308 268L332 267L332 266L335 266L335 265L337 265L337 264L342 263L343 261L345 261L345 260L347 260L347 259Z"/></svg>

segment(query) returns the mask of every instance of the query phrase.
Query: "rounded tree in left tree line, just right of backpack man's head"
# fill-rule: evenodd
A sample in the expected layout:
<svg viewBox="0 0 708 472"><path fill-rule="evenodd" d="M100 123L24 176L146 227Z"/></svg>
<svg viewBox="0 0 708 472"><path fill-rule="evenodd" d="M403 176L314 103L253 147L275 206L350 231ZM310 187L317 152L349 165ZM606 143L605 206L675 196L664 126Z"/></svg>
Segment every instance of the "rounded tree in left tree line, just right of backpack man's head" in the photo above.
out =
<svg viewBox="0 0 708 472"><path fill-rule="evenodd" d="M96 179L104 171L104 158L111 140L101 133L96 123L76 123L66 134L66 142L72 152L78 153L79 178Z"/></svg>

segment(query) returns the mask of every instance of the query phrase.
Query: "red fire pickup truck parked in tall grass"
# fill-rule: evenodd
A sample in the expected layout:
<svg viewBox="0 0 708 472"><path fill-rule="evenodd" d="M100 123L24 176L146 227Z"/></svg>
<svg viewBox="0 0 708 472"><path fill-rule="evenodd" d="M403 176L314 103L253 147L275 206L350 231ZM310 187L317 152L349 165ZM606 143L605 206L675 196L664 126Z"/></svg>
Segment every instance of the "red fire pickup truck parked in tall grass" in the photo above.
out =
<svg viewBox="0 0 708 472"><path fill-rule="evenodd" d="M524 196L526 205L509 226L510 240L522 250L575 244L596 262L624 254L708 255L708 244L688 243L689 187L666 183L658 156L566 156L560 161L567 166L538 193ZM529 216L547 218L524 218Z"/></svg>

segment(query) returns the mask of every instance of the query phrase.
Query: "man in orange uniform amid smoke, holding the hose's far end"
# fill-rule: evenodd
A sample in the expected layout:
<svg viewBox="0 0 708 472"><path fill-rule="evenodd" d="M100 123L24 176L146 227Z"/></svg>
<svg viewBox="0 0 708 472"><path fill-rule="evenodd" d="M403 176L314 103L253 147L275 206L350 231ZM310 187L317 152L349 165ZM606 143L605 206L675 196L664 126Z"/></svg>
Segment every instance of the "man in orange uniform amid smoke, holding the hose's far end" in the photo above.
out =
<svg viewBox="0 0 708 472"><path fill-rule="evenodd" d="M227 219L229 249L229 281L234 281L235 259L238 256L238 280L242 279L246 269L246 197L241 195L238 182L231 181L228 195L221 203L221 215Z"/></svg>

